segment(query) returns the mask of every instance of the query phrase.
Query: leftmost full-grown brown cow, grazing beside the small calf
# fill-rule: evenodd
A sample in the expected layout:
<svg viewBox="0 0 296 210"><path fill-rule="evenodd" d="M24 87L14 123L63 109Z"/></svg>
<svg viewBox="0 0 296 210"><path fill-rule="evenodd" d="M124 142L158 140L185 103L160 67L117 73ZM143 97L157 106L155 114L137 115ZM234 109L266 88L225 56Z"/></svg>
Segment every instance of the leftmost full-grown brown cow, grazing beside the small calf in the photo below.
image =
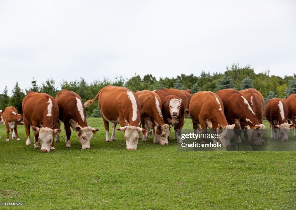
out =
<svg viewBox="0 0 296 210"><path fill-rule="evenodd" d="M22 100L22 112L27 135L27 145L31 145L30 126L34 132L34 147L43 153L54 151L54 135L59 135L57 129L59 120L59 106L57 102L46 93L29 91ZM54 130L53 130L54 129Z"/></svg>

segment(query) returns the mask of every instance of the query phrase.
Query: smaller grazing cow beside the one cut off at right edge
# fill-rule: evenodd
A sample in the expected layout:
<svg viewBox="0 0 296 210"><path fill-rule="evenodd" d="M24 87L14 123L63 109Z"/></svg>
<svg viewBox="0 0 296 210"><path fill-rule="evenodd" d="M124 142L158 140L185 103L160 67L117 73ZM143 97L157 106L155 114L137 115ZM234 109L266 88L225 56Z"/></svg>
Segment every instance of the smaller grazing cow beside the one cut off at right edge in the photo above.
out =
<svg viewBox="0 0 296 210"><path fill-rule="evenodd" d="M265 118L270 124L271 138L278 139L277 129L282 141L288 141L288 133L294 124L288 123L288 106L279 98L267 101L265 107Z"/></svg>

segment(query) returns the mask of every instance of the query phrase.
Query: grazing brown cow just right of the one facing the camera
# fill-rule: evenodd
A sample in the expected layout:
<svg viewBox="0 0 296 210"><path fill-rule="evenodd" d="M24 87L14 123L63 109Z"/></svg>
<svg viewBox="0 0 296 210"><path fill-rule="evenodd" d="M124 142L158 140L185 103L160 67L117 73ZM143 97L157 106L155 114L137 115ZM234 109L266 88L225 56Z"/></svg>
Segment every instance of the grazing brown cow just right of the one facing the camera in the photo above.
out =
<svg viewBox="0 0 296 210"><path fill-rule="evenodd" d="M198 124L202 128L202 133L207 132L207 127L217 129L223 147L231 147L231 138L234 134L235 125L228 125L224 115L223 103L218 95L211 91L199 91L195 93L190 101L189 113L192 120L194 133L198 129ZM221 129L225 129L222 130ZM214 131L216 132L216 131ZM205 143L203 140L201 143ZM216 143L216 142L215 142Z"/></svg>

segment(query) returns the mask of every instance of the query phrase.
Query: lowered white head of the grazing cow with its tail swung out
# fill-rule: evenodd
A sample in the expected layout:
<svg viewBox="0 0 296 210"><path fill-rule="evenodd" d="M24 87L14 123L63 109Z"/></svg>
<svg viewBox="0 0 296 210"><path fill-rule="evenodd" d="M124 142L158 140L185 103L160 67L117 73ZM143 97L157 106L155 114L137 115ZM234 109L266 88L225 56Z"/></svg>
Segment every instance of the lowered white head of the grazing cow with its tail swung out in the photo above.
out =
<svg viewBox="0 0 296 210"><path fill-rule="evenodd" d="M123 131L124 137L126 138L126 149L127 150L135 150L138 146L138 140L139 140L139 132L146 133L147 130L127 125L125 127L117 128L116 130Z"/></svg>

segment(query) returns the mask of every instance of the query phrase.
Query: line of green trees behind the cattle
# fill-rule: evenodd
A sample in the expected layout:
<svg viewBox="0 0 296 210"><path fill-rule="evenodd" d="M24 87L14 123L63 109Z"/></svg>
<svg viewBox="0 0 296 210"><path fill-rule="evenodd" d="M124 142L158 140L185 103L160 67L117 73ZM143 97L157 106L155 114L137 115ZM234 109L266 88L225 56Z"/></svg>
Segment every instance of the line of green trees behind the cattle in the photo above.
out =
<svg viewBox="0 0 296 210"><path fill-rule="evenodd" d="M55 97L62 89L74 91L84 101L94 98L96 94L106 85L125 86L131 91L136 90L155 90L161 88L176 88L187 89L190 88L193 93L198 91L213 91L216 92L222 89L237 89L244 90L247 88L255 88L267 101L270 98L284 98L292 93L296 93L296 75L284 76L284 78L274 75L269 75L269 71L256 74L254 69L247 65L240 67L239 64L233 63L231 66L226 67L224 73L206 73L202 71L199 76L190 74L181 74L177 77L161 77L156 79L151 74L144 77L134 75L131 78L124 78L117 76L114 79L105 78L104 80L94 80L88 84L84 78L74 81L65 81L57 87L55 81L47 79L41 86L37 85L36 80L33 78L31 87L23 91L18 83L12 90L12 96L8 96L7 88L0 94L0 109L5 109L7 106L15 106L19 113L22 113L22 99L28 91L35 91L47 93ZM97 103L86 108L87 114L91 117L100 116Z"/></svg>

